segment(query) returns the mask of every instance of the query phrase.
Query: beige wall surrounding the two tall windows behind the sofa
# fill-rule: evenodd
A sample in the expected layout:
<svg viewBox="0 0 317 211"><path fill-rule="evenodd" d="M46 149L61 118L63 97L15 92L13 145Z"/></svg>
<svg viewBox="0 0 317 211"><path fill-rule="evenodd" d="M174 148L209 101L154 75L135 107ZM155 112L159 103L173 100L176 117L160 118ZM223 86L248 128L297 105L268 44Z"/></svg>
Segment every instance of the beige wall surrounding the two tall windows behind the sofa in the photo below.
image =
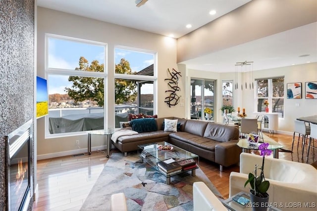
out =
<svg viewBox="0 0 317 211"><path fill-rule="evenodd" d="M169 108L164 103L165 90L168 89L164 81L168 77L167 68L178 69L176 64L176 40L168 37L139 31L127 27L105 23L81 16L63 13L43 7L38 7L38 75L44 77L45 33L68 36L73 38L105 42L108 47L108 113L109 127L114 126L114 46L122 45L158 52L158 94L157 108L159 117L177 116L185 117L185 106ZM185 76L185 68L180 65L179 71ZM179 95L185 96L185 77L179 82L181 91ZM111 100L112 99L112 100ZM37 142L38 158L50 158L62 155L70 155L87 151L87 135L68 136L62 138L45 138L45 118L38 120ZM79 140L80 150L75 146L75 140ZM92 147L104 145L102 139L93 139Z"/></svg>

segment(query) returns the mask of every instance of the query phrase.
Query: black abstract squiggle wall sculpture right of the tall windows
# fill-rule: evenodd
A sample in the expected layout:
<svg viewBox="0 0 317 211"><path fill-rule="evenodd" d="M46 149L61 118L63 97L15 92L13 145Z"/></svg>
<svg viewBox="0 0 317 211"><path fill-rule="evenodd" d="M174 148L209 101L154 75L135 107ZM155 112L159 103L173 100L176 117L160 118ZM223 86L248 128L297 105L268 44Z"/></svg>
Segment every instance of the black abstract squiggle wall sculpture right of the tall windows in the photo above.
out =
<svg viewBox="0 0 317 211"><path fill-rule="evenodd" d="M165 93L168 93L168 96L165 97L164 102L167 103L168 107L171 107L179 103L181 96L178 96L176 91L180 91L178 80L182 76L180 75L180 72L177 72L174 68L172 71L167 68L167 72L170 76L170 79L165 79L164 81L168 81L169 90L165 91Z"/></svg>

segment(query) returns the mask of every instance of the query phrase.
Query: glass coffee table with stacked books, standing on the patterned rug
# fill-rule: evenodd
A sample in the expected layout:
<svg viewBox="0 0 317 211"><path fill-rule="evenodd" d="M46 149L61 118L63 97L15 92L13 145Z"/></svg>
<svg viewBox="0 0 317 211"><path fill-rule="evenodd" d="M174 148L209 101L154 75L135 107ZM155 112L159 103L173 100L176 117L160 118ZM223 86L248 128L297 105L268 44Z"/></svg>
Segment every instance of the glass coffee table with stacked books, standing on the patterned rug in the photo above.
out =
<svg viewBox="0 0 317 211"><path fill-rule="evenodd" d="M161 150L160 146L170 146L170 150ZM162 175L166 177L166 184L170 184L170 177L192 171L192 176L196 175L196 169L199 165L199 156L177 146L169 144L168 142L157 142L152 144L143 144L138 146L138 154L140 155L141 161L145 161L150 166L158 170ZM160 164L170 161L171 163L181 164L182 168L172 171L165 172L160 168ZM159 166L158 166L159 163ZM185 165L188 163L188 165ZM165 165L165 164L164 164Z"/></svg>

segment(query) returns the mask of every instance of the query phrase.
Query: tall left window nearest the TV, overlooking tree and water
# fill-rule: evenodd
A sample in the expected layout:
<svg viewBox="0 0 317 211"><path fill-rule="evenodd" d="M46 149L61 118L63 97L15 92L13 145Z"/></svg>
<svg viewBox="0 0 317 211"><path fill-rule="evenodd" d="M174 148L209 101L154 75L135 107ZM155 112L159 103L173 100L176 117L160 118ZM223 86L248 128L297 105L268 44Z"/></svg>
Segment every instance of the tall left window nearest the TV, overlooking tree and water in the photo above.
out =
<svg viewBox="0 0 317 211"><path fill-rule="evenodd" d="M104 128L106 44L46 35L48 136Z"/></svg>

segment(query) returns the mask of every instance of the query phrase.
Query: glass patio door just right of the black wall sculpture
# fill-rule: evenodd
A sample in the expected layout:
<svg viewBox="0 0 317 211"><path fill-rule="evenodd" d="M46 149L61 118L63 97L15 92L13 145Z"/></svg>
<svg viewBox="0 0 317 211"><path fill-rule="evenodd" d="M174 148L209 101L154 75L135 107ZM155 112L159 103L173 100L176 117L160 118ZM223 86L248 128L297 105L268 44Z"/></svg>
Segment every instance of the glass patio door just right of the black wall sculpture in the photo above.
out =
<svg viewBox="0 0 317 211"><path fill-rule="evenodd" d="M214 81L207 79L191 79L191 119L214 120ZM210 108L208 117L204 110Z"/></svg>

